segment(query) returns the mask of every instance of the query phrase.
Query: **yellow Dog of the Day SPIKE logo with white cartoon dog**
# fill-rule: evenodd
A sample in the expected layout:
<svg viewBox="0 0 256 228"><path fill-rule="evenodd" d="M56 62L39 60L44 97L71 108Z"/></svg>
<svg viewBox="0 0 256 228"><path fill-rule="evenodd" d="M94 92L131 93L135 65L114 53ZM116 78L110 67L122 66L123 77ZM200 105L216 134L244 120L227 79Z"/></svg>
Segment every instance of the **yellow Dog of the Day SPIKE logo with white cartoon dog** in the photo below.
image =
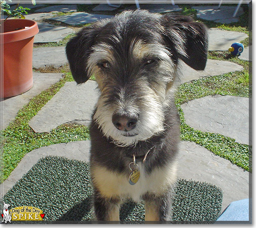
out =
<svg viewBox="0 0 256 228"><path fill-rule="evenodd" d="M45 213L43 213L43 211L39 208L31 206L20 206L8 209L9 206L9 204L4 203L2 222L7 223L11 221L43 221L43 218L45 217Z"/></svg>

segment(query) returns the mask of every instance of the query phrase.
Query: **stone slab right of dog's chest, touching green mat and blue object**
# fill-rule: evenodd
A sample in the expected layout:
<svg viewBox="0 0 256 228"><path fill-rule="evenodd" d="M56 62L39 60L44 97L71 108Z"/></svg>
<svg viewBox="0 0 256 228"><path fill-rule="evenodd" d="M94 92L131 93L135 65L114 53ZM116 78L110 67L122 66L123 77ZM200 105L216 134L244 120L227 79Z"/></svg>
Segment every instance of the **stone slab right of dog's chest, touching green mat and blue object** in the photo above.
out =
<svg viewBox="0 0 256 228"><path fill-rule="evenodd" d="M178 177L217 185L223 191L222 210L231 202L249 198L249 172L232 165L193 142L180 145Z"/></svg>

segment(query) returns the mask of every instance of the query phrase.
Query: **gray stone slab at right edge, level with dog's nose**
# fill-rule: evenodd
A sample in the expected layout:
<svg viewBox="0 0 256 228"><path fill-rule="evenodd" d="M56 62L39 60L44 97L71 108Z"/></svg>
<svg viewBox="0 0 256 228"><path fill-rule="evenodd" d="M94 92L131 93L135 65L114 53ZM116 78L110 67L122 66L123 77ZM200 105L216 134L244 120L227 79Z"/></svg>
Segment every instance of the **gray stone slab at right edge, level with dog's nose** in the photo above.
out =
<svg viewBox="0 0 256 228"><path fill-rule="evenodd" d="M249 145L249 98L205 96L181 105L186 124Z"/></svg>

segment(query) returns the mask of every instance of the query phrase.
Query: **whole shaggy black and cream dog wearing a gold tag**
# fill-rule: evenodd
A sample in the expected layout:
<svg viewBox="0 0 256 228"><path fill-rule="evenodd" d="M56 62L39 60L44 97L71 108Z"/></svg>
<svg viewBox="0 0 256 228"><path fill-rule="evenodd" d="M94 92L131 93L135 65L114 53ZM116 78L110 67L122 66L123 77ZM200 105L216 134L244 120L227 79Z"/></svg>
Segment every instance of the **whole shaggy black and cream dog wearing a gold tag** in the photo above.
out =
<svg viewBox="0 0 256 228"><path fill-rule="evenodd" d="M98 221L119 221L127 198L144 201L146 221L170 221L180 141L174 103L179 64L204 70L207 49L203 24L144 10L95 22L67 43L74 80L94 75L100 93L90 126Z"/></svg>

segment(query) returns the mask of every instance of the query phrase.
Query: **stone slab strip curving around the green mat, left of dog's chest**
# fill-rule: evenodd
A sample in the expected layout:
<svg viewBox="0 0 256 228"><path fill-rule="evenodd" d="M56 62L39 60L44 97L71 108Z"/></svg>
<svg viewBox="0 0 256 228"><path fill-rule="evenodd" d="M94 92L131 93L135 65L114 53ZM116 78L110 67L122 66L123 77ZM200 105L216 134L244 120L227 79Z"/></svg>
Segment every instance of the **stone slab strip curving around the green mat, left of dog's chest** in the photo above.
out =
<svg viewBox="0 0 256 228"><path fill-rule="evenodd" d="M0 185L0 198L4 196L15 183L28 172L40 158L51 156L63 156L70 159L89 162L89 150L91 142L78 141L69 143L59 143L51 146L43 146L32 150L22 158L19 165L11 172L10 176Z"/></svg>

